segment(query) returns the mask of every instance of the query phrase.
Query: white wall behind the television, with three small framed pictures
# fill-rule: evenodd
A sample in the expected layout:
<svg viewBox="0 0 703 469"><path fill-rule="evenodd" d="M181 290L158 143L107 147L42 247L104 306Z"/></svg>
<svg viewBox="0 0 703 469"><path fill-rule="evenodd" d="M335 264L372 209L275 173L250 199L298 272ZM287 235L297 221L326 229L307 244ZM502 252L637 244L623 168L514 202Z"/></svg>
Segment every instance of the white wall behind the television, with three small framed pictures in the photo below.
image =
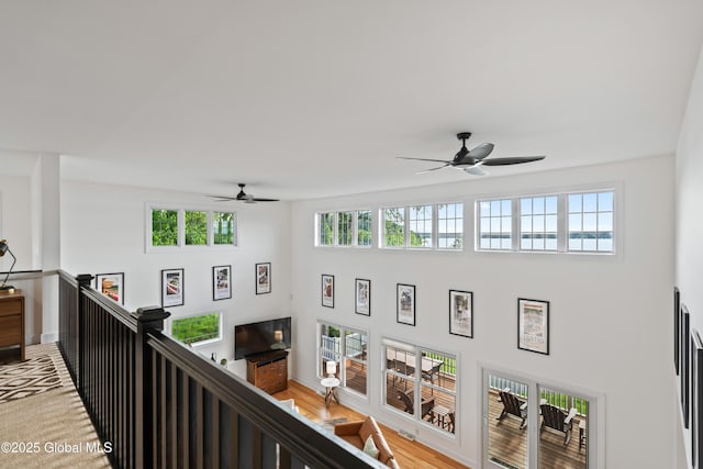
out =
<svg viewBox="0 0 703 469"><path fill-rule="evenodd" d="M239 224L236 248L145 252L146 204L183 209L234 210ZM207 356L234 356L234 325L289 315L290 205L286 202L217 203L201 194L64 181L62 268L72 275L124 272L125 308L160 305L161 269L185 269L185 305L172 317L209 311L224 313L224 340L198 347ZM256 263L271 263L270 294L255 294ZM212 267L232 265L232 299L212 300ZM246 375L244 360L231 369Z"/></svg>

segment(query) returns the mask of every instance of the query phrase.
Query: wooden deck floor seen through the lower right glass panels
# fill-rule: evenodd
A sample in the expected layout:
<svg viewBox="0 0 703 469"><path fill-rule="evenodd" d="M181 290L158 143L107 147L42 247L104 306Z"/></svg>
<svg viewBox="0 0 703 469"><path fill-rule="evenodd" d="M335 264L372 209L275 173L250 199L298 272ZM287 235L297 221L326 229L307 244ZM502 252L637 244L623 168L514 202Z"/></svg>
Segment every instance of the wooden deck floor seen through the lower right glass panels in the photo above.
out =
<svg viewBox="0 0 703 469"><path fill-rule="evenodd" d="M520 428L521 422L510 416L498 421L503 411L503 404L493 391L489 397L489 459L506 468L523 469L527 467L527 429ZM540 469L585 469L585 446L579 449L579 422L573 421L571 442L563 446L563 434L549 429L542 432L539 437L539 468Z"/></svg>

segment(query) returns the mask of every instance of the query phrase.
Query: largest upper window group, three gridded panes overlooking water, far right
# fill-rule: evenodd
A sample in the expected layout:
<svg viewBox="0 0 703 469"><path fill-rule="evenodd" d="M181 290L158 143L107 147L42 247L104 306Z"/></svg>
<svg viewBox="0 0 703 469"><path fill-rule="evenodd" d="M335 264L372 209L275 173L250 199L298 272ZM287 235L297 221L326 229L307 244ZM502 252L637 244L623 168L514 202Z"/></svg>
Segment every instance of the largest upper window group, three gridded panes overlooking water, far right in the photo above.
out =
<svg viewBox="0 0 703 469"><path fill-rule="evenodd" d="M615 190L477 200L476 250L613 254Z"/></svg>

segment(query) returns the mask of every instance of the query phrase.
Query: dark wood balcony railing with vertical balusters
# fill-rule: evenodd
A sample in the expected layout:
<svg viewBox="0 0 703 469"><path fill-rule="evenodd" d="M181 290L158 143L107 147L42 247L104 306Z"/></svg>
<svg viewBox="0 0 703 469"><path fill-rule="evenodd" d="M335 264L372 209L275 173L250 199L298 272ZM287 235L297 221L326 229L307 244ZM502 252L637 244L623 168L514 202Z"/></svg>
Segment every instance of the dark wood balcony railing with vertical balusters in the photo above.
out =
<svg viewBox="0 0 703 469"><path fill-rule="evenodd" d="M59 271L59 348L120 468L383 468L161 333L169 313L129 312Z"/></svg>

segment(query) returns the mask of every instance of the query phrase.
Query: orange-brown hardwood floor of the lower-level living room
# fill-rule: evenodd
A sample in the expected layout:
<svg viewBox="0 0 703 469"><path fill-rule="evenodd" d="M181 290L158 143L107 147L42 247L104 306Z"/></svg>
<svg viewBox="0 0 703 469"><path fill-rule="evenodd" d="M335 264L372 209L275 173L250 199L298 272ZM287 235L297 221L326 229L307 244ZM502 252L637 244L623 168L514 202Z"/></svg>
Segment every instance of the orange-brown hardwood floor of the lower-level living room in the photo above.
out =
<svg viewBox="0 0 703 469"><path fill-rule="evenodd" d="M294 399L300 414L313 422L323 422L333 418L347 418L347 421L362 420L362 415L352 409L334 402L330 407L325 407L324 398L298 381L290 380L288 389L277 392L274 398L278 400ZM446 469L446 468L468 468L442 453L435 451L417 442L411 442L398 434L398 432L380 424L383 437L391 447L395 460L403 469Z"/></svg>

